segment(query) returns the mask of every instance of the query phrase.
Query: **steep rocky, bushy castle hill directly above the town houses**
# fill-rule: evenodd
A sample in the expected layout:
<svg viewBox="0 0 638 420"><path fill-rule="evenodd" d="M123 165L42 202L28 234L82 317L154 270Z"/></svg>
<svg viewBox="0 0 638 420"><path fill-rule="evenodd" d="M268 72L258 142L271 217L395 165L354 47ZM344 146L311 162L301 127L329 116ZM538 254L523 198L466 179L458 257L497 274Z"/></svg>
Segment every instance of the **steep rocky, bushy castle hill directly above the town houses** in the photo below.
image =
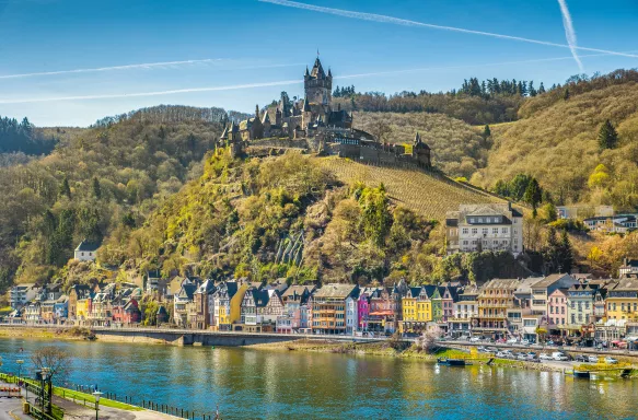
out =
<svg viewBox="0 0 638 420"><path fill-rule="evenodd" d="M344 176L341 162L361 166L361 175L368 170L293 152L231 160L220 150L207 159L201 178L166 200L143 226L108 237L98 258L161 269L164 276L253 281L422 283L521 273L507 253L440 258L442 230L428 215L480 201L480 195L409 171L386 177L395 170L370 167L372 177ZM416 190L405 203L405 190L397 189L401 176L411 178L408 187ZM421 211L410 209L417 202Z"/></svg>

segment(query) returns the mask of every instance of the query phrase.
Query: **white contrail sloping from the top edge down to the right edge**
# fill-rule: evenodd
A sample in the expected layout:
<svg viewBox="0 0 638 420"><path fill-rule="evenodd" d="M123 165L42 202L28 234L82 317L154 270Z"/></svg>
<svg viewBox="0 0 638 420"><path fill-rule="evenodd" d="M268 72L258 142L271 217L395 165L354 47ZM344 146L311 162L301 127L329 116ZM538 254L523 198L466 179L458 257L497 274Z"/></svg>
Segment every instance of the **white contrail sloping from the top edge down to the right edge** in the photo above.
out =
<svg viewBox="0 0 638 420"><path fill-rule="evenodd" d="M569 45L550 43L548 40L538 40L538 39L523 38L523 37L520 37L520 36L495 34L495 33L491 33L491 32L465 30L465 28L462 28L462 27L454 27L454 26L434 25L434 24L431 24L431 23L422 23L422 22L409 21L409 20L406 20L406 19L398 19L398 18L393 18L393 16L386 16L384 14L363 13L363 12L353 12L353 11L350 11L350 10L343 10L343 9L324 8L324 7L320 7L320 5L300 3L300 2L297 2L297 1L289 1L289 0L257 0L257 1L260 1L263 3L271 3L271 4L285 5L285 7L289 7L289 8L310 10L310 11L320 12L320 13L335 14L335 15L344 16L344 18L359 19L359 20L363 20L363 21L372 21L372 22L380 22L380 23L392 23L392 24L395 24L395 25L403 25L403 26L429 27L429 28L433 28L433 30L461 32L461 33L464 33L464 34L491 36L494 38L500 38L500 39L520 40L520 42L523 42L523 43L547 45L547 46L550 46L550 47L570 48ZM613 55L613 56L624 56L624 57L638 58L637 55L629 55L629 54L625 54L625 52L610 51L610 50L605 50L605 49L587 48L587 47L578 47L578 46L575 46L573 48L575 49L581 49L581 50L584 50L584 51L604 52L604 54L608 54L608 55Z"/></svg>

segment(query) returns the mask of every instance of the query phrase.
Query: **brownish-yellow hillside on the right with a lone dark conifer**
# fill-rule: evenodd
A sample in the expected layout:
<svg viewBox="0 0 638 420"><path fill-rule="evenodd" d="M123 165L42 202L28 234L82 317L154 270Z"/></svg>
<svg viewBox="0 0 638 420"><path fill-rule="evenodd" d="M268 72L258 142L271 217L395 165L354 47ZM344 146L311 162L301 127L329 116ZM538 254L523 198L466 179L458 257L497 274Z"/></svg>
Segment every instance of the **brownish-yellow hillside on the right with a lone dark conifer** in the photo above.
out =
<svg viewBox="0 0 638 420"><path fill-rule="evenodd" d="M515 122L492 125L494 145L472 180L538 179L557 203L638 206L638 72L618 71L529 98Z"/></svg>

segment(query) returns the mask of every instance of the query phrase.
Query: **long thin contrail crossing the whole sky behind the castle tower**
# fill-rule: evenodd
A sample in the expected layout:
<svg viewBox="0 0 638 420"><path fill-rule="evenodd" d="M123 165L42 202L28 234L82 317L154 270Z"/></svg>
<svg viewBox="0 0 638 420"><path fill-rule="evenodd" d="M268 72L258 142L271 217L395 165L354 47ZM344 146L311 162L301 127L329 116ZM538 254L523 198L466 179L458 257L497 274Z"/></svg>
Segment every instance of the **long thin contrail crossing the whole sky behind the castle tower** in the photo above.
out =
<svg viewBox="0 0 638 420"><path fill-rule="evenodd" d="M627 51L627 54L628 52L636 52L636 50ZM590 55L581 56L581 58L603 57L603 56L608 56L608 55L610 54L606 54L606 52L590 54ZM519 60L519 61L490 62L490 63L484 63L484 65L426 67L426 68L415 68L415 69L378 71L378 72L373 72L373 73L344 74L344 75L337 75L334 79L335 80L358 79L358 78L367 78L367 77L373 77L373 75L401 74L401 73L410 73L410 72L419 72L419 71L450 70L450 69L473 69L476 67L495 67L495 66L521 65L521 63L545 62L545 61L560 61L560 60L571 60L571 59L573 59L573 57L567 56L567 57L554 57L554 58L537 58L537 59ZM228 85L228 86L211 86L211 88L178 89L178 90L156 91L156 92L119 93L119 94L107 94L107 95L39 97L39 98L26 98L26 100L0 100L0 105L3 105L3 104L28 104L28 103L38 103L38 102L91 101L91 100L113 100L113 98L123 98L123 97L162 96L162 95L174 95L174 94L178 94L178 93L235 91L235 90L244 90L244 89L294 85L294 84L301 84L301 83L302 83L301 80L285 80L285 81L279 81L279 82L234 84L234 85Z"/></svg>

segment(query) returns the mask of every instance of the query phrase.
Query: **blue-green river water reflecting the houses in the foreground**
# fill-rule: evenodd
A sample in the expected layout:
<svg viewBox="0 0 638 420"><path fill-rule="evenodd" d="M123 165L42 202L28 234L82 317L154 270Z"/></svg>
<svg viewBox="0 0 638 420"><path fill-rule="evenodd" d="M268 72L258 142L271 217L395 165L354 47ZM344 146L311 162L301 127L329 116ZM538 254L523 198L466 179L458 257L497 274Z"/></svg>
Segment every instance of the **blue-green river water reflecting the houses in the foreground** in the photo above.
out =
<svg viewBox="0 0 638 420"><path fill-rule="evenodd" d="M31 351L51 345L73 357L70 383L197 413L219 404L224 419L638 418L636 380L378 357L0 339L2 370L16 373L18 359L27 368Z"/></svg>

